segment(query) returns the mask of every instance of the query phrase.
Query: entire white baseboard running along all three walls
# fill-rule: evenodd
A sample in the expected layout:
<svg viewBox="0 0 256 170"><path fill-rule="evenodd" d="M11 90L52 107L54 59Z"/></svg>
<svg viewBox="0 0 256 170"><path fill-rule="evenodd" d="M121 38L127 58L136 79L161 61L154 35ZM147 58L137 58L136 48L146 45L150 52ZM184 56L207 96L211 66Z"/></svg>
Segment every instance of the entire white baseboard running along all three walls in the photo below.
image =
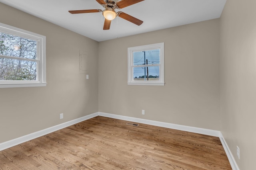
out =
<svg viewBox="0 0 256 170"><path fill-rule="evenodd" d="M36 138L41 137L43 135L47 135L47 134L52 133L54 131L58 131L60 129L63 129L63 128L71 126L71 125L74 125L74 124L79 123L81 121L91 119L91 118L96 117L98 115L103 116L103 117L110 117L110 118L114 118L114 119L120 119L120 120L125 120L125 121L136 122L136 123L144 123L144 124L147 124L147 125L154 125L154 126L159 126L159 127L166 127L166 128L170 128L170 129L176 129L176 130L181 130L181 131L187 131L187 132L193 132L193 133L199 133L199 134L203 134L203 135L219 137L220 141L222 143L222 146L224 147L224 150L225 150L225 152L228 156L228 160L231 164L232 169L233 170L239 170L238 165L236 164L236 161L234 159L234 156L232 155L232 152L230 151L230 149L228 147L228 144L226 143L226 141L225 141L225 139L222 136L222 133L220 131L210 130L210 129L203 129L203 128L198 128L198 127L190 127L190 126L184 126L184 125L177 125L177 124L165 123L165 122L160 122L160 121L152 121L152 120L140 119L140 118L136 118L136 117L115 115L115 114L103 113L103 112L96 112L96 113L93 113L93 114L90 114L90 115L87 115L87 116L84 116L84 117L80 117L78 119L74 119L72 121L62 123L60 125L49 127L47 129L43 129L41 131L30 133L28 135L18 137L16 139L12 139L10 141L0 143L0 151L4 150L4 149L8 149L10 147L13 147L15 145L19 145L19 144L24 143L26 141L36 139Z"/></svg>

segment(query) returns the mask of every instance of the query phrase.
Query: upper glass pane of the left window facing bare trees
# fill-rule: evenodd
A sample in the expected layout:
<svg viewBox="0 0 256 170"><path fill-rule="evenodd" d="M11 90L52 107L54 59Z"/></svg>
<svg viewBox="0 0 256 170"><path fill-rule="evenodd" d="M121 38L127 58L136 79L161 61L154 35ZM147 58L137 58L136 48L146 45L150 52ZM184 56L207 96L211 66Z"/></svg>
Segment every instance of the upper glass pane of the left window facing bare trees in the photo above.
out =
<svg viewBox="0 0 256 170"><path fill-rule="evenodd" d="M0 55L36 59L36 41L0 32Z"/></svg>

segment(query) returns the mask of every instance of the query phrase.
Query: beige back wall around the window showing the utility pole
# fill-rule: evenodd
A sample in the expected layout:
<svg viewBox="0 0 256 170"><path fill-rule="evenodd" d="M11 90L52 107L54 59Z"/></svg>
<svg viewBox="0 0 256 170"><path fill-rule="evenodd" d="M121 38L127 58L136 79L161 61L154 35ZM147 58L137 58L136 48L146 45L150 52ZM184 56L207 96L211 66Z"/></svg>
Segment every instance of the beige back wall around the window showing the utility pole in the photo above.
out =
<svg viewBox="0 0 256 170"><path fill-rule="evenodd" d="M99 111L220 130L219 41L215 19L100 42ZM127 48L162 42L165 86L128 86Z"/></svg>

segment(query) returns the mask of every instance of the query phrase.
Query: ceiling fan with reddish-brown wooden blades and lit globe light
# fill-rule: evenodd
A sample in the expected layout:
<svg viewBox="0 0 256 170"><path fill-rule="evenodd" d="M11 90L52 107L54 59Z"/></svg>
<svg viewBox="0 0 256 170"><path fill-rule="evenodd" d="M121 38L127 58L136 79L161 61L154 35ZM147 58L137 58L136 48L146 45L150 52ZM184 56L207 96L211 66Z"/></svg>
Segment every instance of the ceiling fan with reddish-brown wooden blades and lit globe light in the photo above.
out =
<svg viewBox="0 0 256 170"><path fill-rule="evenodd" d="M116 18L116 16L119 16L123 18L124 20L130 21L136 25L141 25L143 21L134 18L133 16L130 16L124 12L116 12L115 9L122 9L127 6L136 4L138 2L144 1L144 0L96 0L100 5L102 5L105 10L74 10L74 11L68 11L71 14L82 14L82 13L92 13L92 12L102 12L102 15L105 18L103 29L110 29L110 23L112 20Z"/></svg>

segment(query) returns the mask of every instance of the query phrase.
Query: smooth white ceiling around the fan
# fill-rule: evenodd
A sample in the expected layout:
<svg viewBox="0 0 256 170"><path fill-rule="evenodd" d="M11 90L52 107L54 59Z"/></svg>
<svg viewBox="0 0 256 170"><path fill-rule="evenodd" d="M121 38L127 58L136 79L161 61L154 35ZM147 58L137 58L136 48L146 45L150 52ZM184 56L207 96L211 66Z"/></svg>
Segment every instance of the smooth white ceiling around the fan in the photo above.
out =
<svg viewBox="0 0 256 170"><path fill-rule="evenodd" d="M96 0L0 0L38 18L104 41L149 31L155 31L199 21L220 18L226 0L144 0L116 10L144 21L138 26L117 17L109 30L103 30L102 13L70 14L68 10L104 8Z"/></svg>

